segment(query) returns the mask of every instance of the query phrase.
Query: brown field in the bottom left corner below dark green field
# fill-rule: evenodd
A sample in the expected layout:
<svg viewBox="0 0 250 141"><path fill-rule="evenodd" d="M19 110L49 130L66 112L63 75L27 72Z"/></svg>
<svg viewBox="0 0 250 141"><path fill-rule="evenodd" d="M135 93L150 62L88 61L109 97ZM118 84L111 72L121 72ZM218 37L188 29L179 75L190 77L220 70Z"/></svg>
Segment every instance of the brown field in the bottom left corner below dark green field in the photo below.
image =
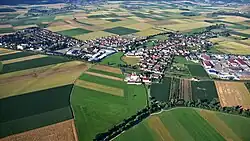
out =
<svg viewBox="0 0 250 141"><path fill-rule="evenodd" d="M74 120L11 135L0 141L78 141Z"/></svg>

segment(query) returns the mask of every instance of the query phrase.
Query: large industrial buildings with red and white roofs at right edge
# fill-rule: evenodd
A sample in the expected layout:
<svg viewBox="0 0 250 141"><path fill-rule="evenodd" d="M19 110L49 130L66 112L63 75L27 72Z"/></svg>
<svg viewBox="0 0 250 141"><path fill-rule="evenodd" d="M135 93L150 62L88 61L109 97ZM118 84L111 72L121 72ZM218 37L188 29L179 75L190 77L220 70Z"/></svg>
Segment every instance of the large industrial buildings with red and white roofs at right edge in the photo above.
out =
<svg viewBox="0 0 250 141"><path fill-rule="evenodd" d="M250 56L197 54L208 74L220 79L250 77Z"/></svg>

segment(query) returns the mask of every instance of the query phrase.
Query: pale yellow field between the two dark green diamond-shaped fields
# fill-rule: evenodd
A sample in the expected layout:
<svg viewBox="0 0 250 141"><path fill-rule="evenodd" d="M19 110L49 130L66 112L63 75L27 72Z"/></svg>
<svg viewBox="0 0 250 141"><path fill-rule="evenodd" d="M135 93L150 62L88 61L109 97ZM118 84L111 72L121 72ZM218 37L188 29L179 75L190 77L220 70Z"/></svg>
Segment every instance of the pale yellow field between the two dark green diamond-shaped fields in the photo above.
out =
<svg viewBox="0 0 250 141"><path fill-rule="evenodd" d="M106 36L111 36L111 35L115 35L115 34L105 32L105 31L96 31L96 32L90 32L88 34L77 35L74 37L79 40L91 40L91 39L96 39L96 38L106 37Z"/></svg>

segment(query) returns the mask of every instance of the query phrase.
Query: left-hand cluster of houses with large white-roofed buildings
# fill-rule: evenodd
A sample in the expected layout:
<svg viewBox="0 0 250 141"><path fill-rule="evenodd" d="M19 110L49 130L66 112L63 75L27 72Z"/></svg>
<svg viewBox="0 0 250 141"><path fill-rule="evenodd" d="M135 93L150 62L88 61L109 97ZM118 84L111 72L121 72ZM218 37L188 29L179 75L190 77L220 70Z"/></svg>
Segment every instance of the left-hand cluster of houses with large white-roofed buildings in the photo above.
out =
<svg viewBox="0 0 250 141"><path fill-rule="evenodd" d="M97 62L118 52L118 50L126 50L138 40L141 39L109 36L81 41L46 29L31 27L13 34L0 36L0 46L49 55L66 55Z"/></svg>

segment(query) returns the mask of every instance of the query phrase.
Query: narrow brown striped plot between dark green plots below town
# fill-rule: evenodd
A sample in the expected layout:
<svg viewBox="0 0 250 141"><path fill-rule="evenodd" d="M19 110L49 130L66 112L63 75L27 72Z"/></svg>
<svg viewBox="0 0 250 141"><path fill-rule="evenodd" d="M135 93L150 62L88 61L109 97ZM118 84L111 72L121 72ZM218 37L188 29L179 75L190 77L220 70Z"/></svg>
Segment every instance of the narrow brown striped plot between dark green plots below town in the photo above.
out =
<svg viewBox="0 0 250 141"><path fill-rule="evenodd" d="M185 101L192 100L192 86L191 81L188 79L180 81L180 99L184 99Z"/></svg>

